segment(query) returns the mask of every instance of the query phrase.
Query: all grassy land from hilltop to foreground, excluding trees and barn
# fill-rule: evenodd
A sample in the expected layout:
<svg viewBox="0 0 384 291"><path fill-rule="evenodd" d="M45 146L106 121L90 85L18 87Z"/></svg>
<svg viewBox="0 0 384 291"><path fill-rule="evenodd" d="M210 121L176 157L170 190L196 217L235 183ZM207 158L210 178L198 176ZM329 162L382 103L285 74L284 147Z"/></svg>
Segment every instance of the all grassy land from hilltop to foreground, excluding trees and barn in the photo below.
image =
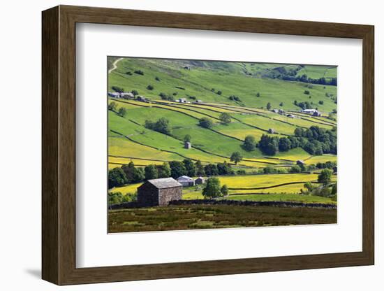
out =
<svg viewBox="0 0 384 291"><path fill-rule="evenodd" d="M116 59L108 59L108 69L112 69ZM295 136L297 128L318 127L330 131L337 127L336 121L327 118L337 110L335 85L284 80L279 77L281 72L290 72L297 78L304 74L311 79L337 78L336 66L121 58L116 69L108 73L108 92L137 91L135 94L145 97L145 101L139 101L137 97L108 97L108 169L112 171L130 162L141 169L184 159L200 161L202 166L227 162L232 173L217 176L221 185L228 187L225 199L337 204L336 199L301 194L306 190L304 183L318 185L320 171L313 170L314 165L337 162L337 155L310 154L303 149L305 143L302 148L278 150L273 156L266 155L259 147L251 151L244 148L246 136L253 136L258 142L263 135L279 139ZM186 101L178 101L180 98ZM300 112L302 108L295 105L300 102L307 102L322 116L312 117ZM119 113L123 109L125 113ZM272 109L282 109L295 118L275 113ZM230 116L227 124L221 120L222 113ZM166 134L149 126L160 118L168 121L169 132ZM202 118L209 118L212 127L200 126ZM332 113L330 118L336 120L336 114ZM186 135L191 136L189 149L184 148ZM230 160L233 152L242 156L238 163ZM305 173L290 173L298 160L313 167ZM267 173L266 167L274 169L274 173ZM332 175L332 183L336 182L337 176ZM142 182L121 183L108 192L134 195L140 185ZM204 199L203 187L205 185L184 187L182 199ZM204 209L196 212L198 207ZM220 214L220 211L229 211L230 208L237 215L236 223L228 218L228 213ZM239 214L242 209L244 213ZM110 211L109 223L110 231L127 232L333 223L336 219L335 210L280 210L245 206L168 206ZM252 212L256 215L254 218L249 216ZM181 213L183 215L179 215ZM204 217L201 213L205 213ZM143 215L142 218L133 217L139 214ZM156 221L149 222L149 214L156 214ZM165 219L167 215L168 220ZM193 219L190 219L191 215ZM214 219L205 219L207 217ZM176 220L179 222L175 223Z"/></svg>

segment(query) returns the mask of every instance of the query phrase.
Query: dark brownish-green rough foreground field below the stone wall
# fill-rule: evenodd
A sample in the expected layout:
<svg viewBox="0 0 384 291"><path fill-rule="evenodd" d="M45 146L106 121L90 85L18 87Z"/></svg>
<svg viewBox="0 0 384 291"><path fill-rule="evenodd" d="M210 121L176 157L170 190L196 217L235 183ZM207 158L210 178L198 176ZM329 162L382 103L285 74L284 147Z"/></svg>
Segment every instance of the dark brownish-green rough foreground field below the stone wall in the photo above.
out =
<svg viewBox="0 0 384 291"><path fill-rule="evenodd" d="M317 225L337 222L336 209L188 205L109 211L109 232Z"/></svg>

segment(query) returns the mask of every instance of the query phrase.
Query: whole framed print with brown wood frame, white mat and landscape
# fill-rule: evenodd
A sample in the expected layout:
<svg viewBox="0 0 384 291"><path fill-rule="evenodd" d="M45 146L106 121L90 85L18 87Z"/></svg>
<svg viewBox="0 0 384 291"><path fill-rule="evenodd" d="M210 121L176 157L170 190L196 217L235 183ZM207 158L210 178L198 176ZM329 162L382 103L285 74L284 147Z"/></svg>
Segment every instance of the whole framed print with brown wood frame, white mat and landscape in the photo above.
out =
<svg viewBox="0 0 384 291"><path fill-rule="evenodd" d="M374 264L374 27L45 10L42 220L58 285Z"/></svg>

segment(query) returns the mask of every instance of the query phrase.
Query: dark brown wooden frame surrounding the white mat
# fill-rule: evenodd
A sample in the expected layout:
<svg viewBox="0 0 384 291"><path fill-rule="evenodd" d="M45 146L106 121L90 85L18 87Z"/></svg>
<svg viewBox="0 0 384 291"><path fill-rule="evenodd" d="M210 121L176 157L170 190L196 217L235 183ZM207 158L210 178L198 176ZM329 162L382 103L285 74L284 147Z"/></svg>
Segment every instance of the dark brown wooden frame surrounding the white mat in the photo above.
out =
<svg viewBox="0 0 384 291"><path fill-rule="evenodd" d="M77 22L360 38L363 43L362 252L237 260L75 266L75 24ZM374 264L374 27L144 10L57 6L43 11L43 270L58 285Z"/></svg>

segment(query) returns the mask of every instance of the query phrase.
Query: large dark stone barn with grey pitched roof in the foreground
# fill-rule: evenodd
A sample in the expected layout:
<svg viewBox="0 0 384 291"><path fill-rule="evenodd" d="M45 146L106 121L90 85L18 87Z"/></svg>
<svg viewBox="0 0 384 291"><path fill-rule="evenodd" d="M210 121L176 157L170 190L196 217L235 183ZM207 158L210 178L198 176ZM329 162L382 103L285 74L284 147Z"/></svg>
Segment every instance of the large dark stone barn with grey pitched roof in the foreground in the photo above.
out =
<svg viewBox="0 0 384 291"><path fill-rule="evenodd" d="M172 200L182 199L183 186L174 178L147 180L138 187L140 206L167 206Z"/></svg>

